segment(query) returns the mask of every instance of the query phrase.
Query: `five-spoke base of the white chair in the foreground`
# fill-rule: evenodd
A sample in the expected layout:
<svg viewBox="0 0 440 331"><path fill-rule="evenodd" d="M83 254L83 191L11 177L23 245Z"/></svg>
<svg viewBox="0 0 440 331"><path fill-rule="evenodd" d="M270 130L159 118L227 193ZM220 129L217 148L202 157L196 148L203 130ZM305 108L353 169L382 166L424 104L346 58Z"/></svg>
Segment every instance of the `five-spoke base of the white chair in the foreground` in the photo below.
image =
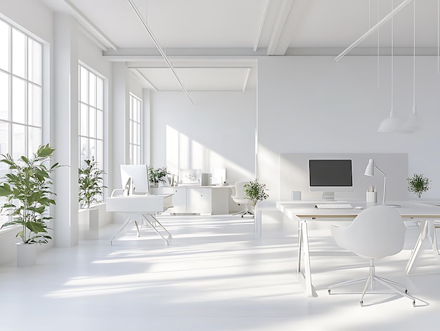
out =
<svg viewBox="0 0 440 331"><path fill-rule="evenodd" d="M363 292L361 295L361 301L360 301L361 306L363 306L363 297L365 297L365 294L368 290L368 287L371 287L373 289L374 283L376 281L377 281L377 283L380 283L380 284L384 285L385 287L388 287L390 290L401 294L402 297L407 297L408 299L413 300L413 306L415 306L415 297L408 294L408 290L406 289L405 285L396 283L393 280L389 280L387 278L382 278L382 277L375 274L375 265L374 265L373 259L370 260L370 275L362 277L362 278L356 278L354 280L347 280L346 282L337 283L335 285L330 285L328 287L328 294L331 294L332 288L340 287L340 286L344 286L344 285L350 285L350 284L354 284L354 283L361 283L361 282L365 282L365 280L367 283L365 283L365 287L363 288ZM399 290L399 287L403 290Z"/></svg>

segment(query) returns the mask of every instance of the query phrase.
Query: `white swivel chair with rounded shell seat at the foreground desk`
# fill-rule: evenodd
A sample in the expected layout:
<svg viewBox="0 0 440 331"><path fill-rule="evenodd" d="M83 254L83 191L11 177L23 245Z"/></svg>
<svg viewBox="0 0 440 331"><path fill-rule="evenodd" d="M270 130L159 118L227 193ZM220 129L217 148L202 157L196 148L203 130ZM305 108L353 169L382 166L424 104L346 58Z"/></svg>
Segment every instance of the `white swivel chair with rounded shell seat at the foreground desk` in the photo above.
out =
<svg viewBox="0 0 440 331"><path fill-rule="evenodd" d="M373 282L377 281L377 283L388 287L394 292L413 300L413 305L415 306L415 297L408 294L405 285L387 280L375 274L375 259L397 254L403 248L406 228L396 209L387 206L370 207L358 214L356 219L354 219L349 226L345 228L331 226L330 231L337 245L354 252L354 254L360 257L370 259L370 275L331 285L328 287L329 294L331 294L332 288L360 283L366 280L367 283L365 284L361 296L362 306L365 292L367 292L370 285L373 285ZM399 290L398 287L401 287L403 290Z"/></svg>

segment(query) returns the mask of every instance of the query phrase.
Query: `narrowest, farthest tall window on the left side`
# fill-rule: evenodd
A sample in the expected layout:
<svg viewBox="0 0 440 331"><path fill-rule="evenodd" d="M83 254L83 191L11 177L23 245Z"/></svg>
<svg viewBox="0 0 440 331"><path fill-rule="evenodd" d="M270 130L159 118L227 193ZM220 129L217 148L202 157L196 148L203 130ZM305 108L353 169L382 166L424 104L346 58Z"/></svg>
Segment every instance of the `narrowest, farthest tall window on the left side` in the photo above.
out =
<svg viewBox="0 0 440 331"><path fill-rule="evenodd" d="M130 163L141 164L141 115L142 100L130 93L130 131L129 148Z"/></svg>

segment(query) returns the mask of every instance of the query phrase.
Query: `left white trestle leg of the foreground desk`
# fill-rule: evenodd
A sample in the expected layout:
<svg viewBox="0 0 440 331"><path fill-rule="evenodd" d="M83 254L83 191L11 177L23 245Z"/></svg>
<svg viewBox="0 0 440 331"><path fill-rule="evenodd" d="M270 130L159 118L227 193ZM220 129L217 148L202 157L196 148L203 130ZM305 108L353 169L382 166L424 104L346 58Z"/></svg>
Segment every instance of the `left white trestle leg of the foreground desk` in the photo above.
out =
<svg viewBox="0 0 440 331"><path fill-rule="evenodd" d="M302 258L304 258L304 273L301 271ZM299 221L297 276L299 283L301 283L306 290L307 297L318 297L311 283L309 231L307 229L307 222L303 220Z"/></svg>

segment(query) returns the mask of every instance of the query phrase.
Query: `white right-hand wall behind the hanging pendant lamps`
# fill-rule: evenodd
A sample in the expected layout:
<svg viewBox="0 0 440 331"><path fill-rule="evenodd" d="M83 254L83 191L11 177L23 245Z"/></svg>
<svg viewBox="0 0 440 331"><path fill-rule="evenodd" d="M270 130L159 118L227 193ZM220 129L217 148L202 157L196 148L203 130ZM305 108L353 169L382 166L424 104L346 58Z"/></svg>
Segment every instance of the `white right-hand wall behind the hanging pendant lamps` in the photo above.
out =
<svg viewBox="0 0 440 331"><path fill-rule="evenodd" d="M279 199L279 159L288 152L406 152L408 175L432 179L440 196L440 76L436 57L417 58L416 103L425 124L413 134L377 132L391 108L390 58L261 58L258 70L258 176ZM394 57L394 114L413 105L413 58ZM377 77L377 73L379 77Z"/></svg>

